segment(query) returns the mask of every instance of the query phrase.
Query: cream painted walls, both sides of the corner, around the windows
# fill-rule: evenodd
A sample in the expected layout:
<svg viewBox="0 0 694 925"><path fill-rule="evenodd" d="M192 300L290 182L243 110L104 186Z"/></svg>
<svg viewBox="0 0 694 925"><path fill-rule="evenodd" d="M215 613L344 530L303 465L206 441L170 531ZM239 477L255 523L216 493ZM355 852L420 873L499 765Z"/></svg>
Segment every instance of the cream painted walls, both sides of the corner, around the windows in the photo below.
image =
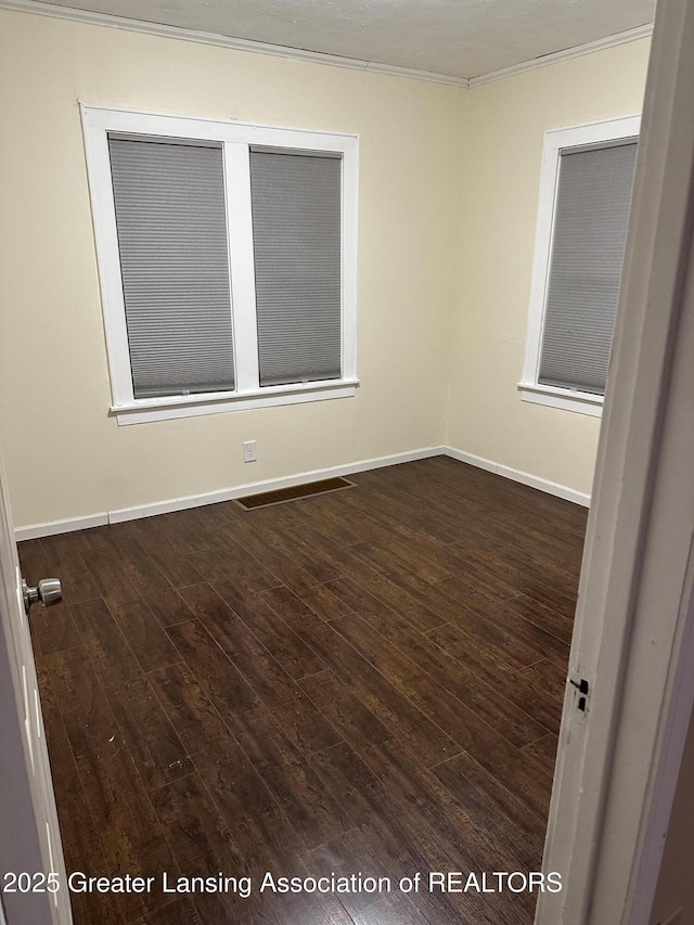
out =
<svg viewBox="0 0 694 925"><path fill-rule="evenodd" d="M589 491L599 421L516 389L542 136L638 112L647 52L468 92L0 12L0 442L16 524L445 442ZM78 101L359 132L356 398L118 427Z"/></svg>

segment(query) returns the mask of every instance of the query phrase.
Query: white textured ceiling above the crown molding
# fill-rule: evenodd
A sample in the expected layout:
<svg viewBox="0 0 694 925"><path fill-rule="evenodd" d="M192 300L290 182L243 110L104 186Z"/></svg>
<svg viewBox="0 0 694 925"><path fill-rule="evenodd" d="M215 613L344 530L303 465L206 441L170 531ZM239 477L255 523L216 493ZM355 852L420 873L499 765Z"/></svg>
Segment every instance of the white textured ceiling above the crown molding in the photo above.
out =
<svg viewBox="0 0 694 925"><path fill-rule="evenodd" d="M646 25L655 7L655 0L49 2L463 79Z"/></svg>

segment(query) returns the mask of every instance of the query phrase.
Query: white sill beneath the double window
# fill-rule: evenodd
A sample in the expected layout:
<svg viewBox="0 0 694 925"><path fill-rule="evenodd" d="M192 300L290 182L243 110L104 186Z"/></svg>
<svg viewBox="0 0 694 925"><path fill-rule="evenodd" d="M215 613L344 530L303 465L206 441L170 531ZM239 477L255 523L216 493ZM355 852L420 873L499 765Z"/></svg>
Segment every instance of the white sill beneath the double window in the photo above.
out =
<svg viewBox="0 0 694 925"><path fill-rule="evenodd" d="M358 380L312 382L308 385L280 385L252 393L220 391L206 395L141 398L132 402L112 404L111 413L119 425L149 424L172 417L195 417L200 414L221 414L227 411L252 411L277 404L300 404L350 398L356 395Z"/></svg>

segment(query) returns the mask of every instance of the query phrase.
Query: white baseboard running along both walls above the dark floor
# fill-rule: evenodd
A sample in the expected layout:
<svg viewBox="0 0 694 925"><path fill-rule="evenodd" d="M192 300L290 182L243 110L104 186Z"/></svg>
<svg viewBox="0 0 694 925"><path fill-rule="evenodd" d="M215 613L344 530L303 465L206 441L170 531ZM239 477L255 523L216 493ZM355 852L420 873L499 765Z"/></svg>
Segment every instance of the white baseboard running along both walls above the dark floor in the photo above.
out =
<svg viewBox="0 0 694 925"><path fill-rule="evenodd" d="M426 447L421 450L411 450L407 453L394 453L388 457L378 457L373 460L361 460L360 462L346 463L345 465L330 466L329 468L313 470L311 472L300 472L296 475L287 475L283 478L268 478L262 481L247 481L244 485L235 485L233 488L222 488L219 491L208 491L204 494L188 494L182 498L170 498L166 501L155 501L150 504L138 504L133 508L120 508L115 511L107 511L99 514L89 514L86 517L70 517L65 521L50 521L46 524L30 524L27 527L17 527L14 531L15 539L33 540L40 537L51 537L55 534L66 534L72 530L83 530L88 527L101 527L106 524L119 524L124 521L136 521L140 517L153 517L156 514L169 514L172 511L187 511L189 508L202 508L205 504L216 504L219 501L232 501L234 498L242 498L244 494L256 494L261 491L277 491L280 488L293 488L295 485L305 485L309 481L318 481L322 478L335 478L339 475L351 475L357 472L364 472L369 468L381 468L387 465L397 465L398 463L414 462L415 460L424 460L429 457L448 455L460 462L468 463L478 468L486 468L504 478L511 478L513 481L520 481L523 485L529 485L532 488L539 488L540 491L547 491L549 494L555 494L557 498L564 498L567 501L573 501L576 504L588 506L590 504L590 496L583 494L580 491L575 491L564 485L557 485L554 481L548 481L545 478L539 478L536 475L530 475L528 472L511 468L491 460L476 457L473 453L457 450L453 447Z"/></svg>

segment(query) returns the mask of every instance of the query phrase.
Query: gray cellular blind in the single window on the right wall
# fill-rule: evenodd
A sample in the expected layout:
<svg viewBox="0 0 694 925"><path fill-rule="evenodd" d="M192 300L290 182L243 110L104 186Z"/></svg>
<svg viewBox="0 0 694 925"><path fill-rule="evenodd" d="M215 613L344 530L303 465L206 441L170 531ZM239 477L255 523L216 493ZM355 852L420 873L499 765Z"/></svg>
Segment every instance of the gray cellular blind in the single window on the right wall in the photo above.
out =
<svg viewBox="0 0 694 925"><path fill-rule="evenodd" d="M605 391L635 153L561 155L539 383Z"/></svg>

